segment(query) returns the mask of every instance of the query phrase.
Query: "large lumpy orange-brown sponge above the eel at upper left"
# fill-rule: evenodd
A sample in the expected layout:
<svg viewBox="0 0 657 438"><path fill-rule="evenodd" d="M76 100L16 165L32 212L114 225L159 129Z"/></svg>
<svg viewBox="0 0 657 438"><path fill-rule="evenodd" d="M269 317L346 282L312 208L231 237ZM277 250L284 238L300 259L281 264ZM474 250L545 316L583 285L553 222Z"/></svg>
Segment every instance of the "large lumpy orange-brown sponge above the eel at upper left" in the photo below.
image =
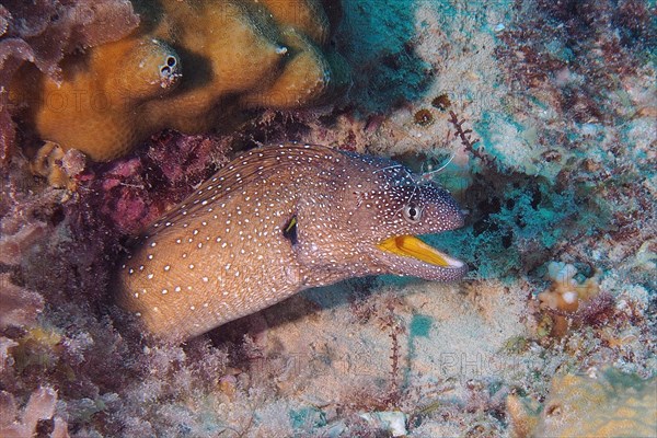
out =
<svg viewBox="0 0 657 438"><path fill-rule="evenodd" d="M163 128L229 131L243 110L297 108L347 85L315 0L135 3L140 27L66 57L60 79L31 66L14 76L11 101L42 139L108 161Z"/></svg>

